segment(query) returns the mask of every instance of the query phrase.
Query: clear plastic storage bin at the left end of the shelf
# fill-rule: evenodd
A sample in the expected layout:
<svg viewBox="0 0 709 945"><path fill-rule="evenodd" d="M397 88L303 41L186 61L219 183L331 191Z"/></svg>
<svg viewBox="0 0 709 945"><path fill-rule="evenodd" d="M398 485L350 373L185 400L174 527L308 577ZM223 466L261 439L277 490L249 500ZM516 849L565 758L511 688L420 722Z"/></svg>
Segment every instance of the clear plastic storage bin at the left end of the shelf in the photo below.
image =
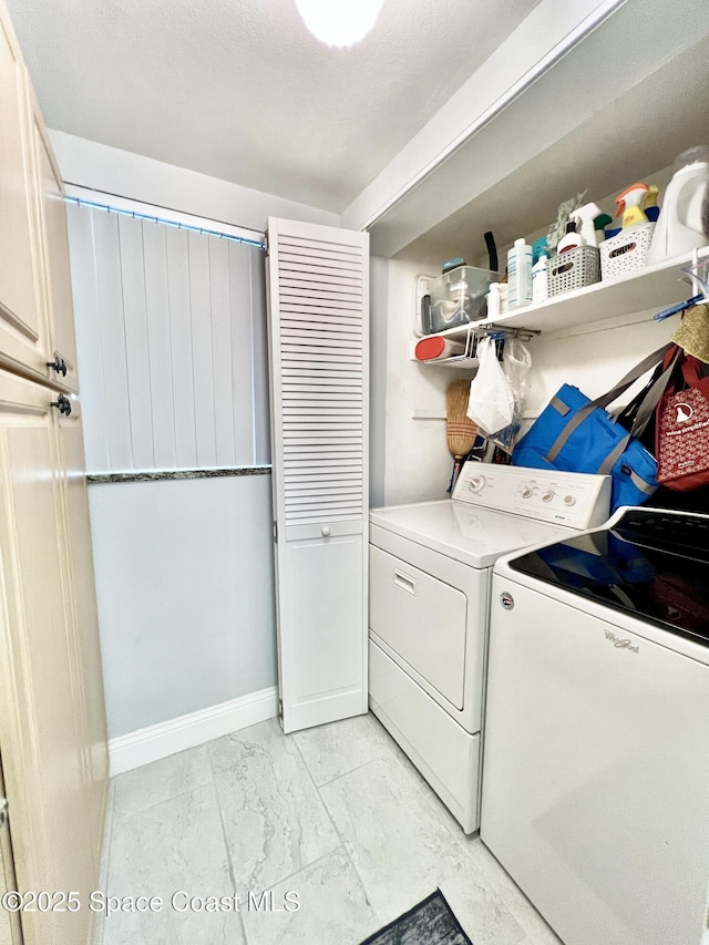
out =
<svg viewBox="0 0 709 945"><path fill-rule="evenodd" d="M497 281L497 273L489 269L475 269L473 266L459 266L430 285L431 305L423 311L423 330L445 331L470 321L485 317L485 295L492 283ZM428 323L427 323L428 322Z"/></svg>

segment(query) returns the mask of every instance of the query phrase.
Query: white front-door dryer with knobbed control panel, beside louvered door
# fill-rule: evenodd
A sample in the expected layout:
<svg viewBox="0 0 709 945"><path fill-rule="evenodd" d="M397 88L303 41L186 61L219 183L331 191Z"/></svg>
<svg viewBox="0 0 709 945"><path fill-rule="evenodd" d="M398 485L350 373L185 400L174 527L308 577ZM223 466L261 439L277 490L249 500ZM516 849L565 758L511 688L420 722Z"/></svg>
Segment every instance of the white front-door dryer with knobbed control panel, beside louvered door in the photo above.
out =
<svg viewBox="0 0 709 945"><path fill-rule="evenodd" d="M370 512L369 701L470 833L479 824L492 565L608 514L607 476L469 462L452 500Z"/></svg>

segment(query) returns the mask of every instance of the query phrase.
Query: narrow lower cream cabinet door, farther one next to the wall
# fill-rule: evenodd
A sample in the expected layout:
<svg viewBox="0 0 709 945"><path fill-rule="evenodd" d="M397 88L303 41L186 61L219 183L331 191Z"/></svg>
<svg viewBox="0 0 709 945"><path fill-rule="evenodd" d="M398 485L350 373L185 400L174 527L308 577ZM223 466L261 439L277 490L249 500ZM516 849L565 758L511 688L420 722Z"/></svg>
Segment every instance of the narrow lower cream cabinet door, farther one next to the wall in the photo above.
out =
<svg viewBox="0 0 709 945"><path fill-rule="evenodd" d="M93 834L94 869L97 874L109 784L109 752L89 495L84 474L84 444L79 403L73 401L72 404L70 415L56 413L54 421L59 434L59 456L64 486L63 507L71 579L76 696L80 702L80 741L84 758L88 815Z"/></svg>

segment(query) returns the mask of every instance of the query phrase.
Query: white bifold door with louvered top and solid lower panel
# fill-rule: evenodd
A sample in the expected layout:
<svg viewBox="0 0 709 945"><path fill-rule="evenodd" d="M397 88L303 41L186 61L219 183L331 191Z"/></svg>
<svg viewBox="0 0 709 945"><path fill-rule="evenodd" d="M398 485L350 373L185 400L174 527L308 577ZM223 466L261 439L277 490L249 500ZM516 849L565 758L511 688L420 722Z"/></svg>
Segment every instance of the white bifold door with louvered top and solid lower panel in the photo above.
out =
<svg viewBox="0 0 709 945"><path fill-rule="evenodd" d="M367 711L369 236L271 218L267 265L288 732Z"/></svg>

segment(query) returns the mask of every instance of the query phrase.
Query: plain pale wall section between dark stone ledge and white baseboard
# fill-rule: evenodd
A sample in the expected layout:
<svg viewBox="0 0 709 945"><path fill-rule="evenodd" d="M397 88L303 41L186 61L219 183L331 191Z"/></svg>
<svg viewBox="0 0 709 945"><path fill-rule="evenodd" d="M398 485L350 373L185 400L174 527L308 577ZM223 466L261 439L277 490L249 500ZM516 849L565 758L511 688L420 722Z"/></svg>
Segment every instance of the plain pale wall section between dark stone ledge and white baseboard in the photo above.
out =
<svg viewBox="0 0 709 945"><path fill-rule="evenodd" d="M110 737L274 686L270 475L89 500Z"/></svg>

